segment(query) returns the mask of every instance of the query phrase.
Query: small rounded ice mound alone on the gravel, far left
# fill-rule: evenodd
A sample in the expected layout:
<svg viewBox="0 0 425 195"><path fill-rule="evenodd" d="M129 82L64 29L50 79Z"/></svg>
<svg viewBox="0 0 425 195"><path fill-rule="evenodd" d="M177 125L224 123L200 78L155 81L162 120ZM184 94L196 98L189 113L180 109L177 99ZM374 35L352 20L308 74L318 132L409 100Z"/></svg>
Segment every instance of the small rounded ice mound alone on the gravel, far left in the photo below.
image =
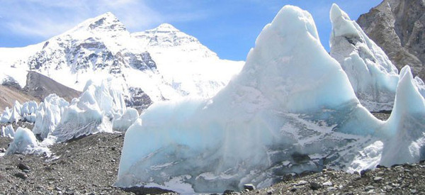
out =
<svg viewBox="0 0 425 195"><path fill-rule="evenodd" d="M50 155L50 150L47 147L42 147L38 143L35 135L28 128L19 127L16 130L15 138L13 142L10 143L6 155L12 155L15 153L20 153L24 155L29 154L45 154Z"/></svg>

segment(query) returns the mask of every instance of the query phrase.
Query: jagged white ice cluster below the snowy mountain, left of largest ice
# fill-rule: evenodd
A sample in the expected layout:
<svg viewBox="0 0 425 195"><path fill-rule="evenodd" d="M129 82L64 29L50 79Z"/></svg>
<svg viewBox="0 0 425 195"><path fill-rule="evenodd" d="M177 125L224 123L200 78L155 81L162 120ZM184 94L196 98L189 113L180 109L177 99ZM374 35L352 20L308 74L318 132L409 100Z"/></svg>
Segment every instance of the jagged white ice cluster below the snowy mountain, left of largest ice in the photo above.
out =
<svg viewBox="0 0 425 195"><path fill-rule="evenodd" d="M84 92L64 108L60 123L51 133L56 142L64 142L84 135L113 132L114 118L121 118L126 110L123 95L114 89L112 80L101 84L87 82Z"/></svg>

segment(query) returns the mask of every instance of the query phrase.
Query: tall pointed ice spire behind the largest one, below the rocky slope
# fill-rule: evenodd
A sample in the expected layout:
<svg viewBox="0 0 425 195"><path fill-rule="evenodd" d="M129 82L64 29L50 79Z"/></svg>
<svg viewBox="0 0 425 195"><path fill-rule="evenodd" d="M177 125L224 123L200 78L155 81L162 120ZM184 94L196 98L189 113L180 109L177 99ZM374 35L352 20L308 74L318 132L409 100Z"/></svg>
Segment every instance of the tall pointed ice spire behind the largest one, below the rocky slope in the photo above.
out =
<svg viewBox="0 0 425 195"><path fill-rule="evenodd" d="M391 110L398 71L356 21L333 4L330 11L331 56L341 64L361 104L369 111Z"/></svg>

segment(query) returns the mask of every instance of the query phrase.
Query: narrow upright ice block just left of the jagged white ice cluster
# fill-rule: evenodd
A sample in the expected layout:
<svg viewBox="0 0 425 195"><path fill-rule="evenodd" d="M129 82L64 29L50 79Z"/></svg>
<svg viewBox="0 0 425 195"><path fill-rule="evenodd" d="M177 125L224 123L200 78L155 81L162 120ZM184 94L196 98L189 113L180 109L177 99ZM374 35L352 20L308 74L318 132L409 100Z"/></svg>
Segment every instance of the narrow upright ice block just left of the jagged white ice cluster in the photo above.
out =
<svg viewBox="0 0 425 195"><path fill-rule="evenodd" d="M55 130L57 124L60 122L64 108L67 106L69 106L68 101L56 94L50 94L45 97L44 101L38 107L33 133L40 140L47 138L47 135L50 135Z"/></svg>

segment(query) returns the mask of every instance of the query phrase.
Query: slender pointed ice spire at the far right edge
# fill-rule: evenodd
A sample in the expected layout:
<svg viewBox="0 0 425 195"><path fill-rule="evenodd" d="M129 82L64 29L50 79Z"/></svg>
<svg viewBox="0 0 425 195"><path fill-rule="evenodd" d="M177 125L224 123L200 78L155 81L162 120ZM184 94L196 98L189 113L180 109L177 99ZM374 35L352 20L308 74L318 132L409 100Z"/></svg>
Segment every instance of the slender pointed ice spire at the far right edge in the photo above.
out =
<svg viewBox="0 0 425 195"><path fill-rule="evenodd" d="M409 66L400 71L395 105L384 130L390 139L382 149L381 165L425 159L425 99L414 84Z"/></svg>

